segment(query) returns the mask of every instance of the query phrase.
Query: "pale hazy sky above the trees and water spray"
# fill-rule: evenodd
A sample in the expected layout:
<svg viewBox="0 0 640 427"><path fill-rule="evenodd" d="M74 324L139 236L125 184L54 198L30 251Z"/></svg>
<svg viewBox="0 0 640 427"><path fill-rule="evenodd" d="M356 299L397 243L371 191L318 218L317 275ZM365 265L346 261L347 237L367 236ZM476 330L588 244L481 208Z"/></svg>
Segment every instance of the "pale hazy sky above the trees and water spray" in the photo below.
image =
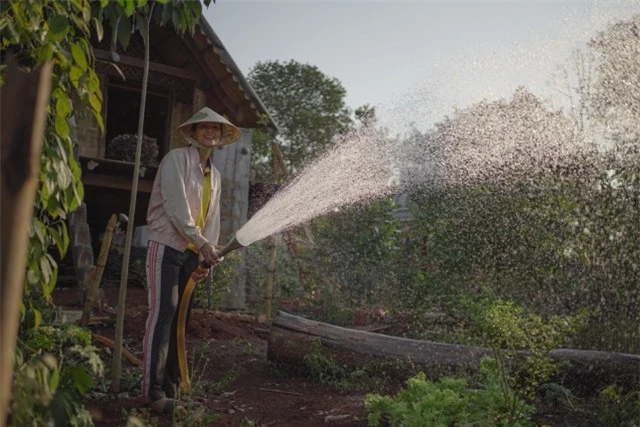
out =
<svg viewBox="0 0 640 427"><path fill-rule="evenodd" d="M246 76L259 61L317 66L347 106L426 130L524 86L562 108L558 70L640 0L216 0L204 15Z"/></svg>

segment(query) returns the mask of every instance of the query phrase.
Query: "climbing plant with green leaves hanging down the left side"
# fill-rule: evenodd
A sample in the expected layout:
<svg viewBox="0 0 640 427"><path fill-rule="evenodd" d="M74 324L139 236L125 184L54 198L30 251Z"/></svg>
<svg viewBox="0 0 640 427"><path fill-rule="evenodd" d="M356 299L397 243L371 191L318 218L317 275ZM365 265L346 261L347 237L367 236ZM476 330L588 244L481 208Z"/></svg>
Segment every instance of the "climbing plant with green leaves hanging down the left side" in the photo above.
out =
<svg viewBox="0 0 640 427"><path fill-rule="evenodd" d="M211 0L204 0L208 6ZM84 190L81 169L74 157L74 120L79 115L93 117L103 131L102 91L94 69L94 54L90 38L102 40L104 26L113 28L111 46L126 49L133 30L148 34L149 22L171 24L179 34L193 31L202 12L202 3L186 0L9 0L0 2L0 87L10 62L24 71L31 71L45 62L53 64L51 98L47 107L47 123L42 141L40 179L34 201L34 215L29 231L29 250L25 260L24 298L21 307L20 339L30 336L43 323L45 307L51 303L57 282L57 264L51 251L64 257L69 247L67 215L82 203ZM151 15L151 20L149 16ZM139 19L138 17L142 17ZM55 252L54 252L55 253ZM47 320L46 317L44 320ZM82 345L82 344L81 344ZM85 343L86 346L86 343ZM54 352L55 353L55 352ZM59 360L58 360L59 359ZM67 359L68 360L68 359ZM35 399L14 416L31 414L29 422L91 425L86 411L76 404L82 393L73 394L69 388L77 383L49 381L49 373L57 378L65 372L67 361L61 354L47 354L41 348L26 346L17 353L15 372L46 375L16 375L14 393L31 390L30 395L42 393L51 399ZM35 372L35 371L34 371ZM58 372L58 373L56 373ZM28 377L28 378L27 378ZM29 378L37 378L26 384ZM25 388L25 386L27 386ZM52 410L53 403L63 396L64 411ZM53 412L52 412L53 411ZM78 416L82 414L82 422ZM25 421L25 420L22 420Z"/></svg>

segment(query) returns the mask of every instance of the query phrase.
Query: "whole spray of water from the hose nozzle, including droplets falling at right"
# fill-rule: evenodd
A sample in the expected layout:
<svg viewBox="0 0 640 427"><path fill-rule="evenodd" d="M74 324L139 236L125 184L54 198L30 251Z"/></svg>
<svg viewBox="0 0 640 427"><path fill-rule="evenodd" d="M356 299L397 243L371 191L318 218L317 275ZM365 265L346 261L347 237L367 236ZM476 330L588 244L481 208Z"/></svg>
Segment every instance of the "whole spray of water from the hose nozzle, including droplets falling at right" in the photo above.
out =
<svg viewBox="0 0 640 427"><path fill-rule="evenodd" d="M478 283L491 284L547 313L598 310L599 347L637 351L638 28L635 17L596 41L601 61L589 70L593 85L577 80L576 99L585 108L572 105L567 114L520 87L456 109L424 133L391 138L365 127L283 187L237 232L237 241L247 246L342 206L444 189L437 213L451 226L448 234L417 237L433 240L430 250L441 239L432 252L446 252L458 239L456 265L427 262L442 286L472 292ZM597 123L602 129L595 132ZM352 265L347 269L354 274ZM428 286L403 282L400 294L424 301Z"/></svg>

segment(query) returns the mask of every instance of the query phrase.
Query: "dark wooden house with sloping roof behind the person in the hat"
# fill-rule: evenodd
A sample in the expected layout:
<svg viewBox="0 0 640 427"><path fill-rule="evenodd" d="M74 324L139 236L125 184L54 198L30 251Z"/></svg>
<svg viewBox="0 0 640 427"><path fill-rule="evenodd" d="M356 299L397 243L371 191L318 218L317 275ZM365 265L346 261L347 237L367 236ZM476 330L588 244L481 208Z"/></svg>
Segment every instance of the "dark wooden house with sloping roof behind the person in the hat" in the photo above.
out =
<svg viewBox="0 0 640 427"><path fill-rule="evenodd" d="M105 132L99 132L91 118L76 121L85 203L71 216L69 225L76 274L81 282L94 262L99 236L109 217L114 213L128 214L131 199L134 157L123 157L121 146L115 150L120 153L116 156L113 147L114 140L123 143L123 135L137 134L144 44L138 34L132 35L126 51L119 48L114 52L110 40L105 31L102 41L93 42L104 95ZM144 134L155 141L148 143L152 149L143 150L136 214L129 218L139 227L138 243L142 240L144 244L146 211L157 164L170 149L184 144L175 129L204 106L224 115L242 131L240 141L214 151L215 166L222 174L220 244L224 244L247 220L252 129L259 123L266 123L271 130L276 125L204 18L193 35L180 36L170 25L153 26ZM135 153L133 147L124 151ZM227 306L243 308L244 303L244 282L240 280L227 298Z"/></svg>

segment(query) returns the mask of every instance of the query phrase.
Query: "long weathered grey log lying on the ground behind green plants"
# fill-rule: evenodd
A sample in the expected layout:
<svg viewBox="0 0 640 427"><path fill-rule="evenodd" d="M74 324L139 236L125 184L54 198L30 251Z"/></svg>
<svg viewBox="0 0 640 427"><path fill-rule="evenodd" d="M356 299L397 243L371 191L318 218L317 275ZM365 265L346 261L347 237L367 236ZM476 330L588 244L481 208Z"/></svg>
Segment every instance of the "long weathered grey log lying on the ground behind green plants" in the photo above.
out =
<svg viewBox="0 0 640 427"><path fill-rule="evenodd" d="M371 361L404 361L412 370L430 376L463 374L477 370L491 349L394 337L317 322L278 312L269 333L268 358L277 363L301 365L316 342L345 367ZM640 355L591 350L557 349L549 353L563 366L559 380L586 391L609 384L640 385Z"/></svg>

